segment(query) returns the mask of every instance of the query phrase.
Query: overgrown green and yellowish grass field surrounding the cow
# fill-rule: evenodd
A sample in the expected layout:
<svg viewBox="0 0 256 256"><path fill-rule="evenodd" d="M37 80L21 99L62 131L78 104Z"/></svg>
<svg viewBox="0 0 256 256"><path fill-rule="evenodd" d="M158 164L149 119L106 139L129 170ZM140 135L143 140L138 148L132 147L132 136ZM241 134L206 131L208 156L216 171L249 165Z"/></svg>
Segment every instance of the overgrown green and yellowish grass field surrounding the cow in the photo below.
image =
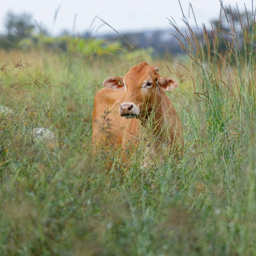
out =
<svg viewBox="0 0 256 256"><path fill-rule="evenodd" d="M254 27L225 53L187 29L165 59L0 51L0 255L256 255ZM142 61L180 83L184 156L127 170L92 151L93 98Z"/></svg>

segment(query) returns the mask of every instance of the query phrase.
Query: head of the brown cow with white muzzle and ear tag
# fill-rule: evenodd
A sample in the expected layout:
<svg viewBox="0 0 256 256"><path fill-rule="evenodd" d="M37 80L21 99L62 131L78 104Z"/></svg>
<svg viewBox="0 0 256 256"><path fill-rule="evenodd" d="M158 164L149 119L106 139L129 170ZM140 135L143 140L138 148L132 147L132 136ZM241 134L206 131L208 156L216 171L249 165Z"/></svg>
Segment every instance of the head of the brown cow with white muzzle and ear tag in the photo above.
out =
<svg viewBox="0 0 256 256"><path fill-rule="evenodd" d="M119 112L125 118L142 119L160 103L160 90L169 91L178 86L171 77L161 77L158 68L142 62L133 66L122 76L112 76L103 82L103 86L113 90L125 90L125 101L121 103Z"/></svg>

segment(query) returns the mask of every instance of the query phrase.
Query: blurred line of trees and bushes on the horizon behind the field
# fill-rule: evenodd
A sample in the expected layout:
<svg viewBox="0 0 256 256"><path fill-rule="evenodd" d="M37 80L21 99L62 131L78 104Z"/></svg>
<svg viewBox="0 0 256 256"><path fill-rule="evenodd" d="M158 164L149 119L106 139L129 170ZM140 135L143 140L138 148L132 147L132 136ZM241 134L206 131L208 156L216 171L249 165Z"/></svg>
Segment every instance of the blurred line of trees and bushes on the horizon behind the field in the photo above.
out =
<svg viewBox="0 0 256 256"><path fill-rule="evenodd" d="M248 16L250 15L252 13L248 13L246 10L239 13L236 9L226 8L225 13L223 13L220 19L211 21L211 26L216 31L222 33L222 40L219 41L218 45L220 51L224 51L226 43L232 43L233 40L233 31L230 31L229 22L233 22L236 28L239 27L237 26L238 24L241 24L241 28L243 24L246 24L248 31L253 30L254 20L252 21L250 19L249 21ZM4 26L6 33L0 35L0 48L7 50L17 48L30 49L35 46L43 46L52 49L57 48L61 51L68 51L70 47L72 51L82 49L82 52L88 52L88 49L92 49L96 53L107 50L107 43L111 43L112 45L114 43L117 48L121 47L122 49L128 50L151 49L151 53L155 56L164 56L166 53L183 53L176 38L177 33L171 27L170 30L147 30L138 33L123 33L122 36L112 33L95 37L86 31L80 36L73 36L68 32L64 32L60 36L53 37L33 21L33 16L30 13L15 14L13 12L7 13ZM236 31L236 33L243 39L244 34L242 29L241 31ZM197 30L197 36L203 40L203 28ZM183 39L180 38L180 40ZM255 41L255 38L252 40ZM102 50L98 51L95 47L99 47ZM110 48L108 50L114 50L113 47Z"/></svg>

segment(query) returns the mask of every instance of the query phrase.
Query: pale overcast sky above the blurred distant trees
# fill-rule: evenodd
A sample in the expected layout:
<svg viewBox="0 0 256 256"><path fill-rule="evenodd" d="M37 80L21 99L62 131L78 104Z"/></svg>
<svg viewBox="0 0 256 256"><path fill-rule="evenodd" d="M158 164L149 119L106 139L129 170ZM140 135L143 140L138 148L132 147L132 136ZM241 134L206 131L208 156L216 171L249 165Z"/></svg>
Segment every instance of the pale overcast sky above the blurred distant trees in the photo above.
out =
<svg viewBox="0 0 256 256"><path fill-rule="evenodd" d="M189 3L192 4L197 23L207 23L218 17L219 0L180 0L184 15L188 17ZM223 5L232 6L236 2L240 11L252 10L252 0L224 0ZM254 8L256 1L254 3ZM166 17L173 16L178 25L181 24L182 12L178 0L3 0L0 4L0 33L4 33L4 17L8 11L14 13L27 12L33 15L37 23L41 23L50 33L57 35L62 30L72 31L75 22L75 33L92 30L94 33L113 32L108 26L100 26L102 21L111 25L118 32L140 31L144 29L171 29ZM56 23L53 20L56 10L59 13ZM190 21L193 24L190 13Z"/></svg>

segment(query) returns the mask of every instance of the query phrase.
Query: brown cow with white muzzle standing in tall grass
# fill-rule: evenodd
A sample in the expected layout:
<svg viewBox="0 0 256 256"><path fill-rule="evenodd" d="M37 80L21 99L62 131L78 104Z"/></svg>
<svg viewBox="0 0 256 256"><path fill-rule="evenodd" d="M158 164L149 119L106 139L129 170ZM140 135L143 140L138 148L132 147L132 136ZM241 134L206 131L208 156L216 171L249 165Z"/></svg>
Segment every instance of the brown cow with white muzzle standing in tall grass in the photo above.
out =
<svg viewBox="0 0 256 256"><path fill-rule="evenodd" d="M131 67L124 77L106 79L103 86L106 88L99 90L94 100L93 144L121 147L125 161L145 138L151 158L152 152L156 157L163 148L164 154L182 154L181 121L165 93L177 88L175 79L161 77L156 67L143 62Z"/></svg>

